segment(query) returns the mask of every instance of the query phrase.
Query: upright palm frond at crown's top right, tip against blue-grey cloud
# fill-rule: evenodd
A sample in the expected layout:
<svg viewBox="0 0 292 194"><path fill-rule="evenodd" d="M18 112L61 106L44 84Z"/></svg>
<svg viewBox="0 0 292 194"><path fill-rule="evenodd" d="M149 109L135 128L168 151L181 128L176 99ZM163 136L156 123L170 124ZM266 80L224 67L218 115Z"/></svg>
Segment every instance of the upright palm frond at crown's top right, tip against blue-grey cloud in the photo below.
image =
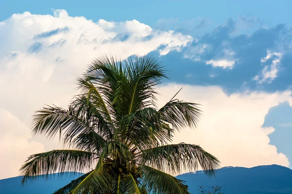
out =
<svg viewBox="0 0 292 194"><path fill-rule="evenodd" d="M160 84L163 78L167 78L164 66L156 58L149 55L134 59L129 57L126 60L128 86L125 92L125 107L128 107L124 114L131 114L152 105L155 99L155 86ZM147 100L148 99L148 100Z"/></svg>

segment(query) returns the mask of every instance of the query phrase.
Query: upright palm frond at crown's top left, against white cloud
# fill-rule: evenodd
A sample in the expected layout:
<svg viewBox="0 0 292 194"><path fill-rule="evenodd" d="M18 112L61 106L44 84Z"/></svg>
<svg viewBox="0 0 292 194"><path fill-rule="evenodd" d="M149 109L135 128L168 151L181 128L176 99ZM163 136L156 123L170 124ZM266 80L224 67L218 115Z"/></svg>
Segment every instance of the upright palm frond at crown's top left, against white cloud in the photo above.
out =
<svg viewBox="0 0 292 194"><path fill-rule="evenodd" d="M84 78L79 81L80 88L86 94L91 88L96 89L93 89L95 92L93 91L92 97L102 97L108 112L111 116L115 116L115 120L119 120L123 115L119 107L123 85L127 83L124 71L121 61L117 61L112 56L102 56L93 60Z"/></svg>

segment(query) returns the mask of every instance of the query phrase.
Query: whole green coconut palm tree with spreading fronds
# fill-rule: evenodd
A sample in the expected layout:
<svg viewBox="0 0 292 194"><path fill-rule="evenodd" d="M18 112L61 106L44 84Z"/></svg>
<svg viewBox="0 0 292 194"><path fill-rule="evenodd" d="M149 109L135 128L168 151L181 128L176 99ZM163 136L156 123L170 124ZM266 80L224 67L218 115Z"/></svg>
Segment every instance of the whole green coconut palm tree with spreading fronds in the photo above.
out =
<svg viewBox="0 0 292 194"><path fill-rule="evenodd" d="M158 109L155 86L165 78L165 67L148 55L95 59L77 80L80 95L68 110L47 106L33 116L34 134L59 134L72 149L29 156L22 183L74 171L87 173L54 194L189 194L170 174L201 165L212 175L219 161L200 146L169 144L175 131L196 127L201 111L175 97Z"/></svg>

